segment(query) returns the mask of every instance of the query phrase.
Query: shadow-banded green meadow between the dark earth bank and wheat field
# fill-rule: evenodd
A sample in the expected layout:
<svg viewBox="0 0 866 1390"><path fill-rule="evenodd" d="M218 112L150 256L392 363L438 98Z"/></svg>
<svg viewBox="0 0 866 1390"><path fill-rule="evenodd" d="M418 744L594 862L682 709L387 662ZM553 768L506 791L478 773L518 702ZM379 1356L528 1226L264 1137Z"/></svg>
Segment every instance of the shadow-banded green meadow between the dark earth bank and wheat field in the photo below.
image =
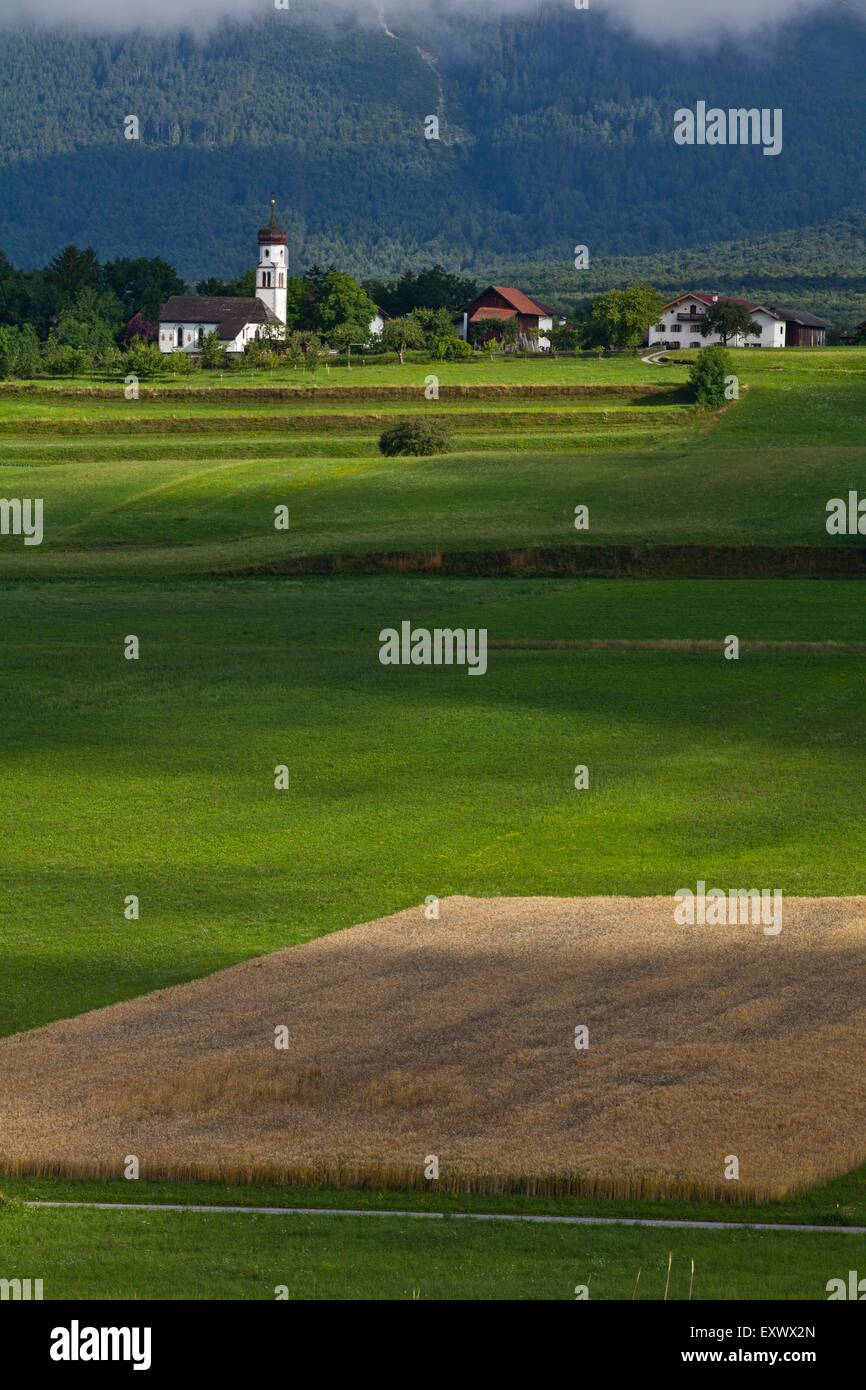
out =
<svg viewBox="0 0 866 1390"><path fill-rule="evenodd" d="M710 876L863 892L866 657L721 656L730 632L862 642L862 605L856 582L10 585L0 1027L428 892L669 894ZM378 634L405 617L719 653L493 649L482 680L382 667Z"/></svg>

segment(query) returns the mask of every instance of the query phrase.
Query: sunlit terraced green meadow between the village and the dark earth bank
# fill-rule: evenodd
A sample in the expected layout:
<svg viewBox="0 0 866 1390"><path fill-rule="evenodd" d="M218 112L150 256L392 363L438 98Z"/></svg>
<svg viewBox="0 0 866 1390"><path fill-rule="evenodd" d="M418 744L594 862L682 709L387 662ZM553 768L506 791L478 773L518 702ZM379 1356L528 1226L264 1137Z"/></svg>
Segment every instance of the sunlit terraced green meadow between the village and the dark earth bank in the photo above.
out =
<svg viewBox="0 0 866 1390"><path fill-rule="evenodd" d="M409 388L407 400L349 396L243 402L218 384L156 388L126 402L0 392L0 489L44 499L39 548L0 548L0 575L206 575L314 555L468 550L594 542L831 546L830 498L866 484L866 352L735 354L744 396L717 421L664 389L685 370L634 360L443 364L488 399L424 399L427 368L335 368ZM767 361L767 359L771 359ZM445 371L445 368L449 368ZM334 379L339 374L339 384ZM523 395L498 398L513 385ZM271 382L271 378L265 378ZM322 378L317 378L321 381ZM544 399L550 386L634 385L628 396ZM261 378L259 378L261 389ZM103 388L104 389L104 388ZM350 388L359 391L357 385ZM453 452L382 459L393 417L443 413ZM289 530L274 509L288 506ZM575 532L574 509L589 509ZM862 543L841 538L841 543Z"/></svg>

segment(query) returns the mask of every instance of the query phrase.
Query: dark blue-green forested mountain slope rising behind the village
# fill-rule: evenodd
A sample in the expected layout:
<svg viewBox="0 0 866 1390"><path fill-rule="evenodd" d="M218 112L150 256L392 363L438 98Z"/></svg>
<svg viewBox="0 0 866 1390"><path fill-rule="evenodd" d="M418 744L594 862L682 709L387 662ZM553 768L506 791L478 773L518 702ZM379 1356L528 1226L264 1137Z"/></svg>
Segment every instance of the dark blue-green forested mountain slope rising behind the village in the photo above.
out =
<svg viewBox="0 0 866 1390"><path fill-rule="evenodd" d="M699 50L556 0L389 21L396 36L306 10L200 38L0 32L0 247L19 265L76 242L229 275L275 193L295 267L567 271L575 243L644 256L866 207L866 25L841 11ZM699 99L781 107L783 153L674 145L674 110Z"/></svg>

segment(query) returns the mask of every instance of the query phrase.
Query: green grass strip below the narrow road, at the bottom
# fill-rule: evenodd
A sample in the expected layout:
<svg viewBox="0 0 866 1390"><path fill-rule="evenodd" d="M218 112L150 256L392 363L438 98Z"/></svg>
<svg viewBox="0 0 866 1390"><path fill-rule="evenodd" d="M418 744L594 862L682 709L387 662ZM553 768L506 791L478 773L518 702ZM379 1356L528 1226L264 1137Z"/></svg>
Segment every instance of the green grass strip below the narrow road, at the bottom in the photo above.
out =
<svg viewBox="0 0 866 1390"><path fill-rule="evenodd" d="M826 1298L855 1236L0 1207L4 1270L46 1298ZM39 1273L35 1273L39 1270ZM637 1280L641 1272L639 1282ZM28 1272L26 1275L24 1272ZM637 1293L635 1293L637 1283ZM286 1294L281 1294L286 1297Z"/></svg>

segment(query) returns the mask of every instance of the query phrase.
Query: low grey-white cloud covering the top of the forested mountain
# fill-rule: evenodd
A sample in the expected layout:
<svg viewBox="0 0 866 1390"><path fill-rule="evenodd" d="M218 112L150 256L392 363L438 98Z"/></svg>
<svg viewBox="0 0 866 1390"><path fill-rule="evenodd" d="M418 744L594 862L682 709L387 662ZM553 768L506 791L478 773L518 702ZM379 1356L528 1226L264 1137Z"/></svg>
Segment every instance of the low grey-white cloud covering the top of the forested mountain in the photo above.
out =
<svg viewBox="0 0 866 1390"><path fill-rule="evenodd" d="M557 0L544 0L556 4ZM559 0L571 8L573 0ZM88 31L200 29L224 19L246 19L271 14L275 8L304 17L352 14L371 24L398 28L402 18L423 17L430 28L435 15L520 14L538 11L539 0L143 0L122 6L117 0L0 0L0 24L17 26L31 21L51 28L74 25ZM577 8L577 0L574 0ZM866 14L866 0L588 0L588 10L628 25L645 39L717 38L723 33L748 36L766 26L816 11L841 10Z"/></svg>

